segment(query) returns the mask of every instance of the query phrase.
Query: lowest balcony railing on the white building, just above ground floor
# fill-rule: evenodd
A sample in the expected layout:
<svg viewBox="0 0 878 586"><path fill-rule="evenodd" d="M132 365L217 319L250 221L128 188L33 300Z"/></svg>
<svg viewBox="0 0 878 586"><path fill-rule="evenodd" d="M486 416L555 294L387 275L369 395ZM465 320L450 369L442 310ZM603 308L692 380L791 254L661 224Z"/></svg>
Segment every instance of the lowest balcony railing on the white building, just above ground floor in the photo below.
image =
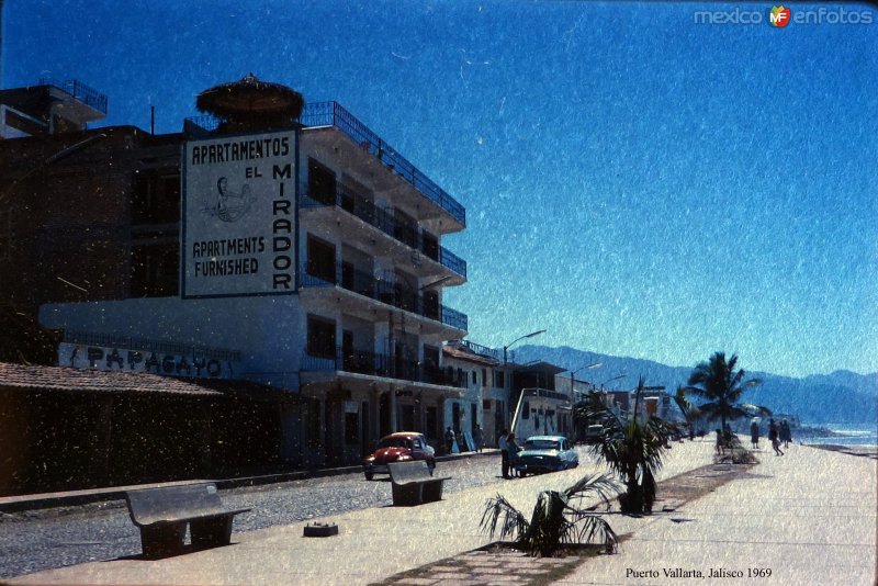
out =
<svg viewBox="0 0 878 586"><path fill-rule="evenodd" d="M314 356L315 353L305 352L302 360L303 371L341 371L442 386L462 386L460 377L450 370L446 372L439 367L417 360L406 360L369 350L345 351L340 347L336 347L334 353L331 350L322 356Z"/></svg>

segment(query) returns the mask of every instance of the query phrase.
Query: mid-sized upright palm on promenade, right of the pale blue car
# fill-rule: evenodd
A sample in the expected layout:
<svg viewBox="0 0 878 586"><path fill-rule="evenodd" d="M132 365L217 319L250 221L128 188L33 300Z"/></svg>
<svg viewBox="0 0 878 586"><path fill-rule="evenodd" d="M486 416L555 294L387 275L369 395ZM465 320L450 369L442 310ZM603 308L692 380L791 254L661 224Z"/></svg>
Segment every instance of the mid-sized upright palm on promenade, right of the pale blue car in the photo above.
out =
<svg viewBox="0 0 878 586"><path fill-rule="evenodd" d="M665 450L675 426L658 417L638 418L640 397L645 382L638 382L634 410L628 418L616 415L608 407L589 414L604 426L601 441L592 446L598 461L606 462L610 470L622 477L626 493L619 497L622 512L641 514L652 510L657 485L655 473L662 467Z"/></svg>

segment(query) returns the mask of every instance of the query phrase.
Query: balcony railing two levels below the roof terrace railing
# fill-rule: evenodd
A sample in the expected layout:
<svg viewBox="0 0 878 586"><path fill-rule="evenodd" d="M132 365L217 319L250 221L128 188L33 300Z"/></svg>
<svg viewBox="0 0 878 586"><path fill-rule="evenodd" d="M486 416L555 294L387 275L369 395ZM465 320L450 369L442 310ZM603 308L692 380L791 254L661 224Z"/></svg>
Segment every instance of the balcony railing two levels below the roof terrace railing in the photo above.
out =
<svg viewBox="0 0 878 586"><path fill-rule="evenodd" d="M335 267L305 263L299 270L299 284L302 288L319 288L340 285L342 289L359 293L406 312L440 322L446 326L466 330L466 314L446 307L417 291L379 279L359 269L350 269L336 263Z"/></svg>

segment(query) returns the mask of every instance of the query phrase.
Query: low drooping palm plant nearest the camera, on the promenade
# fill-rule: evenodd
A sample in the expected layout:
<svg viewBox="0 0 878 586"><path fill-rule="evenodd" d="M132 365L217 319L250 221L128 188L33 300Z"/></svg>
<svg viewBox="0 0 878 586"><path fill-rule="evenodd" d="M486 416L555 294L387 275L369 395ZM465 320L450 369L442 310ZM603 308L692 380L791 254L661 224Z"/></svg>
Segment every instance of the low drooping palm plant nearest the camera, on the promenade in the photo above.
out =
<svg viewBox="0 0 878 586"><path fill-rule="evenodd" d="M584 508L582 500L596 495L609 509L609 497L615 494L610 477L589 474L565 491L541 492L530 521L498 494L485 503L480 528L492 538L498 533L503 540L511 539L518 549L541 557L572 543L598 542L612 553L619 542L616 533L595 507Z"/></svg>

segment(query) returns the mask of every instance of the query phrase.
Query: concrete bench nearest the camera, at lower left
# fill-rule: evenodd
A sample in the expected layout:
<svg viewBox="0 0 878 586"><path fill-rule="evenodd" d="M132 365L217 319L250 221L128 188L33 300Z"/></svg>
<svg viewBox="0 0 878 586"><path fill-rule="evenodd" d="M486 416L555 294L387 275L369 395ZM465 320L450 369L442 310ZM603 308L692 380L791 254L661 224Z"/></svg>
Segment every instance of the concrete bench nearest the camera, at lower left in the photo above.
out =
<svg viewBox="0 0 878 586"><path fill-rule="evenodd" d="M193 548L228 545L235 515L250 510L224 507L213 483L128 491L125 500L146 557L180 553L187 525Z"/></svg>

